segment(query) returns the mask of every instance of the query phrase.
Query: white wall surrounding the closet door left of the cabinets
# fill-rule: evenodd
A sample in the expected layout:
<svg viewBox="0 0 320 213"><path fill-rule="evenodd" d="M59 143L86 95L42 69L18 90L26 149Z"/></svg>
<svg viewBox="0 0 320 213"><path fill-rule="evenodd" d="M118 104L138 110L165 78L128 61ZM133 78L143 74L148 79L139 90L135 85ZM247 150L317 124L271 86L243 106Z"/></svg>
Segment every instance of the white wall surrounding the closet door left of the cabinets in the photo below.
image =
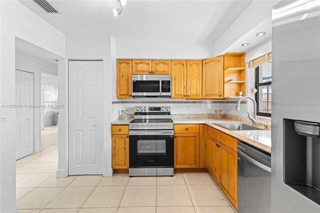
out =
<svg viewBox="0 0 320 213"><path fill-rule="evenodd" d="M102 59L103 60L103 175L112 176L111 168L111 61L114 58L114 41L110 35L67 35L65 36L65 56L68 59ZM66 61L61 61L61 66L65 66ZM60 63L60 61L59 61ZM60 70L59 70L60 71ZM67 70L65 70L67 73ZM59 76L60 82L61 76ZM65 85L67 74L62 77ZM60 89L60 83L59 83ZM61 96L59 97L59 99ZM65 97L62 97L65 101ZM67 108L63 109L63 115L67 116ZM59 111L60 112L60 111ZM60 113L59 113L60 114ZM59 132L60 132L59 118ZM67 119L63 120L61 130L65 131L64 125L67 126ZM63 133L64 140L60 141L59 137L59 164L58 164L58 177L67 176L67 132ZM61 161L60 161L61 157ZM64 172L64 173L63 173Z"/></svg>

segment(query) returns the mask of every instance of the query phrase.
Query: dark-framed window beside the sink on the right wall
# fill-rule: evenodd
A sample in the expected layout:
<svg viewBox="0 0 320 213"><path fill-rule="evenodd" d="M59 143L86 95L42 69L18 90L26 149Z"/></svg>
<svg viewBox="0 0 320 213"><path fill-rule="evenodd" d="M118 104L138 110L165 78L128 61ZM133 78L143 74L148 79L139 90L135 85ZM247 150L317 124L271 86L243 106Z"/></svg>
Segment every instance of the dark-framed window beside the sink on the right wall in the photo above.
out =
<svg viewBox="0 0 320 213"><path fill-rule="evenodd" d="M256 114L271 117L271 62L255 68L255 89Z"/></svg>

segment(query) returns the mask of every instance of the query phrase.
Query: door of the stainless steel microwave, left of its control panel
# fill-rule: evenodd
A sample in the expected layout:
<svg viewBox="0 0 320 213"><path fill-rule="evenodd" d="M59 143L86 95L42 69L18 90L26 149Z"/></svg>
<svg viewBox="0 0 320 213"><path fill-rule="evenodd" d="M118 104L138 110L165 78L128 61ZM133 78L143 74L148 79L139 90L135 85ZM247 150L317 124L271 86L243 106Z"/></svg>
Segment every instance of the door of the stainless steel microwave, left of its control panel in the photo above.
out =
<svg viewBox="0 0 320 213"><path fill-rule="evenodd" d="M161 78L149 75L132 75L132 96L160 96Z"/></svg>

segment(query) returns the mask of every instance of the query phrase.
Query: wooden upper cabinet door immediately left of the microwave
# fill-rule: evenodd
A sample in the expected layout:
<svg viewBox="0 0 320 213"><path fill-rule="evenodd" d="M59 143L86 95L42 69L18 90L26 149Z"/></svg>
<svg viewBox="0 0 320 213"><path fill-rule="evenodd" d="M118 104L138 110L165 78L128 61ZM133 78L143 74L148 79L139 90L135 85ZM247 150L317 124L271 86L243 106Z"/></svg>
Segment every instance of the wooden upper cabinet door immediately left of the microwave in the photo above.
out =
<svg viewBox="0 0 320 213"><path fill-rule="evenodd" d="M116 97L131 98L132 60L116 61Z"/></svg>

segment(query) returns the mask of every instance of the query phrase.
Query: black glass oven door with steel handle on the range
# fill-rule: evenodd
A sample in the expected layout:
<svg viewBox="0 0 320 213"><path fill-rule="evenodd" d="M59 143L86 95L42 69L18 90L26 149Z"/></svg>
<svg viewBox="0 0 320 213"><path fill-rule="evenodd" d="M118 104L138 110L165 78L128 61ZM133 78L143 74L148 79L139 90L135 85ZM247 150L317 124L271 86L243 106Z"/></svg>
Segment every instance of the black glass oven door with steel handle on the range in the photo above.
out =
<svg viewBox="0 0 320 213"><path fill-rule="evenodd" d="M173 130L130 131L129 167L173 167Z"/></svg>

